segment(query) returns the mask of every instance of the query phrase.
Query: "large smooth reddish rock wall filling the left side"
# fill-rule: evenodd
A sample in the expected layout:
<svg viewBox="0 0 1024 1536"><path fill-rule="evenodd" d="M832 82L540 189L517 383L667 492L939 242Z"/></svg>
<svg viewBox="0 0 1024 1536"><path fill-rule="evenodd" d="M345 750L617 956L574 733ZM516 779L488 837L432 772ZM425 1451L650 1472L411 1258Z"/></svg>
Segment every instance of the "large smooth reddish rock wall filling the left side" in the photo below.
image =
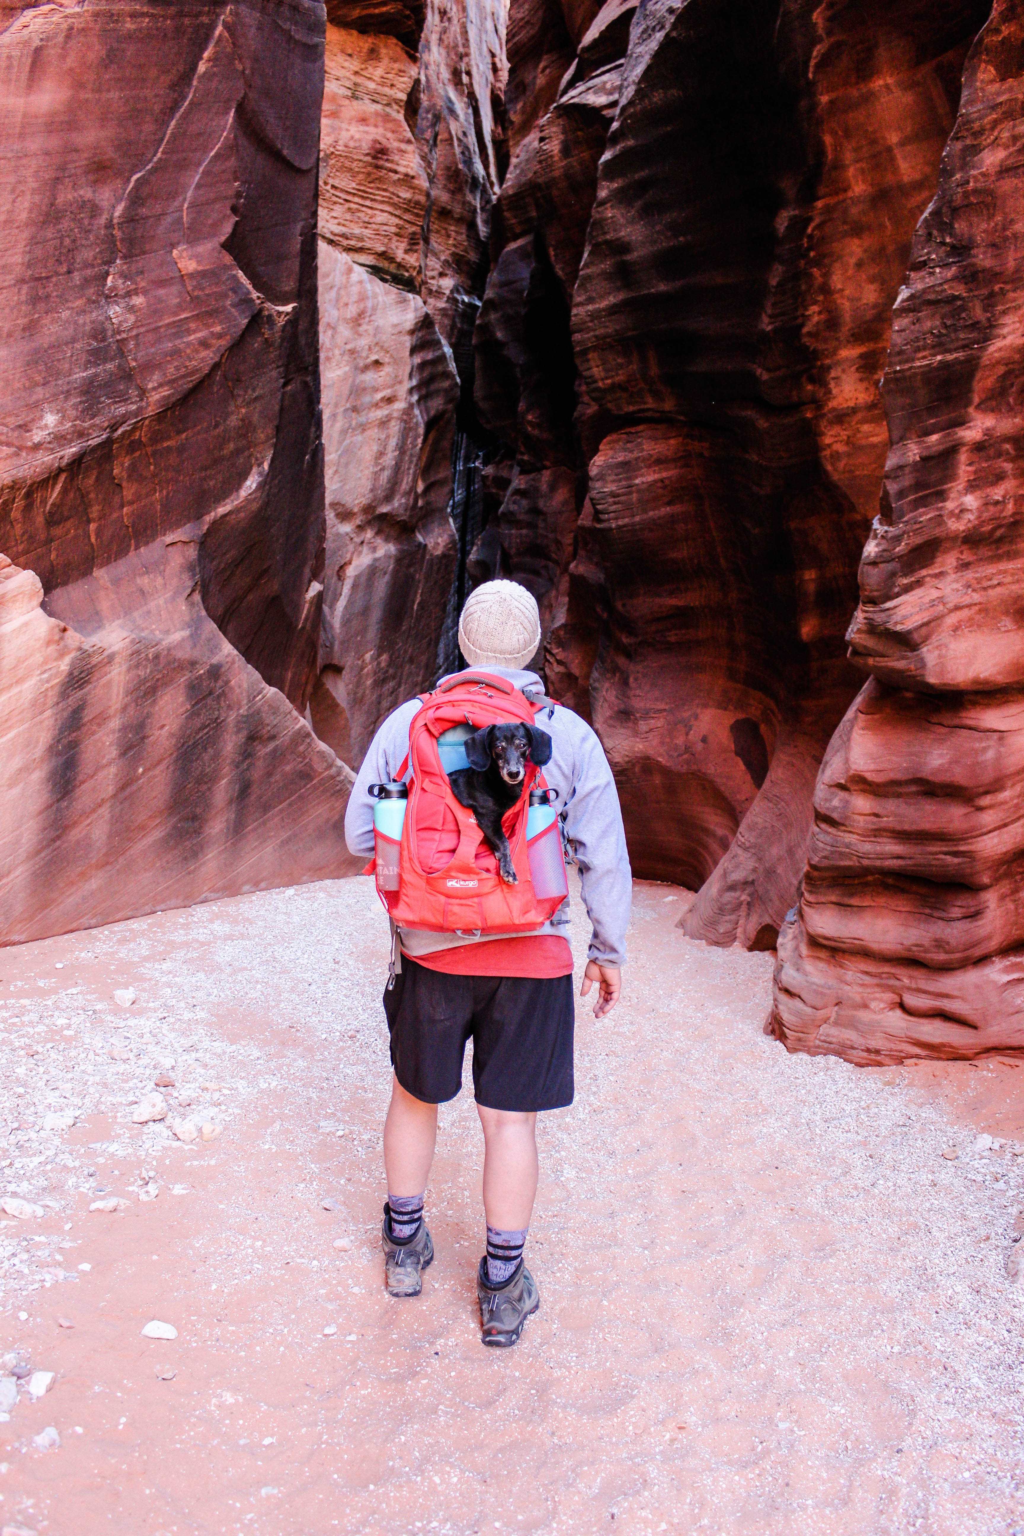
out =
<svg viewBox="0 0 1024 1536"><path fill-rule="evenodd" d="M0 5L0 942L352 868L296 713L322 49L312 0Z"/></svg>

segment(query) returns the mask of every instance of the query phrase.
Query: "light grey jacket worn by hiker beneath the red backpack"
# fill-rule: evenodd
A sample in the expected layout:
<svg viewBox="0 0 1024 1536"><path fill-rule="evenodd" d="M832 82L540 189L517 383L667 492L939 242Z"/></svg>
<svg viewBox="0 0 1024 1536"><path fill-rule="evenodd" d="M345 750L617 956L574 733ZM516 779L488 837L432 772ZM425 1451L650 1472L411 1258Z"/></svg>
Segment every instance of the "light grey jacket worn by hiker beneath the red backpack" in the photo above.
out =
<svg viewBox="0 0 1024 1536"><path fill-rule="evenodd" d="M508 667L479 670L507 677L528 697L543 697L543 684L536 673L513 671ZM444 682L444 679L441 680ZM408 703L399 705L388 714L370 742L370 750L352 788L345 811L345 842L348 851L361 859L368 859L373 852L373 800L367 786L398 777L398 770L408 753L408 728L418 710L419 699L410 699ZM623 965L633 902L633 876L619 796L608 759L586 720L563 705L545 705L537 714L536 723L551 737L553 754L551 762L545 763L543 777L557 794L554 808L565 811L565 829L576 851L583 903L593 925L588 957L606 965ZM565 934L568 905L568 900L563 902L551 922L536 932ZM413 958L438 949L453 949L465 943L487 943L490 938L504 937L508 935L481 934L476 940L467 940L462 934L401 929L402 952Z"/></svg>

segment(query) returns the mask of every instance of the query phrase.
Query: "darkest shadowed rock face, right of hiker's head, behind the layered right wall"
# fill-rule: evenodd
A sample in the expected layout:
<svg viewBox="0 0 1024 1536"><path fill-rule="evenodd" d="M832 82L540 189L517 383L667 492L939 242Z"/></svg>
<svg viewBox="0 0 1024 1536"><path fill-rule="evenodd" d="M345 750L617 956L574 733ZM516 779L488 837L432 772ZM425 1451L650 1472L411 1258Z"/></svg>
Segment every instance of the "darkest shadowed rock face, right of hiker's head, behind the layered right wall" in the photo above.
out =
<svg viewBox="0 0 1024 1536"><path fill-rule="evenodd" d="M510 12L474 574L534 590L636 872L702 886L691 935L771 946L858 687L877 381L986 6L548 12Z"/></svg>

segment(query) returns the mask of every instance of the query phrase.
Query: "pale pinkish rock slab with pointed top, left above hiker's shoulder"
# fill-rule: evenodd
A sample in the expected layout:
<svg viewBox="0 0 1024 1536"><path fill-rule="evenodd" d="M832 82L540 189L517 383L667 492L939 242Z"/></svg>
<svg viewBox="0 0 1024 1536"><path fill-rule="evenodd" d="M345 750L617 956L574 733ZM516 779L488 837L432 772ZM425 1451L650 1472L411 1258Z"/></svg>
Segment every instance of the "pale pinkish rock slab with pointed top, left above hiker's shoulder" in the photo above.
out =
<svg viewBox="0 0 1024 1536"><path fill-rule="evenodd" d="M312 710L318 733L358 765L387 710L438 670L456 565L459 387L418 295L330 246L319 295L329 565Z"/></svg>

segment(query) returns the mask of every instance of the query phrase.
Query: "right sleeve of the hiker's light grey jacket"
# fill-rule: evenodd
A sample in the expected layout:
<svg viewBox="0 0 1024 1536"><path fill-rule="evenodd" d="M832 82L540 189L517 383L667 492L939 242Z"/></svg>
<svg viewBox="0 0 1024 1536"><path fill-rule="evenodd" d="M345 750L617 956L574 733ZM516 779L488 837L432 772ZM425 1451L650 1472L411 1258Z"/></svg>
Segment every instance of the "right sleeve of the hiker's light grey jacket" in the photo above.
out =
<svg viewBox="0 0 1024 1536"><path fill-rule="evenodd" d="M565 831L576 848L583 905L593 925L586 955L605 965L625 965L633 871L619 791L597 736L579 716L574 723L576 771L565 806Z"/></svg>

